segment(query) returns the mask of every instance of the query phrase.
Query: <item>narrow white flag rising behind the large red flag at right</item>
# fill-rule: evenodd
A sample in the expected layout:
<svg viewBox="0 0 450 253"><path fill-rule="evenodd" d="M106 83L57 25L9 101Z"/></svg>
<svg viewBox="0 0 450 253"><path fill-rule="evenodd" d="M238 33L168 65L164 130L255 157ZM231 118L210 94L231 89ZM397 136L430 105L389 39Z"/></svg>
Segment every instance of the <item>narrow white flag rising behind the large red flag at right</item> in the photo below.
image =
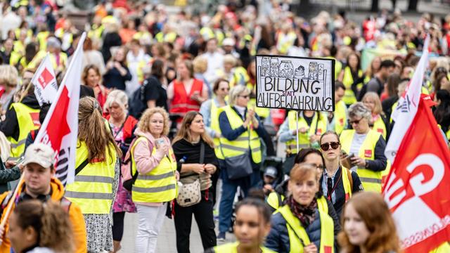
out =
<svg viewBox="0 0 450 253"><path fill-rule="evenodd" d="M416 67L416 71L414 71L413 79L411 79L411 82L406 86L404 94L399 98L397 108L392 112L391 117L394 119L395 124L385 149L385 155L392 163L394 163L395 155L397 155L397 150L399 150L399 145L403 140L406 131L408 131L411 122L416 116L420 99L420 90L422 89L423 75L428 67L429 43L430 36L427 35L425 44L423 45L423 53Z"/></svg>

